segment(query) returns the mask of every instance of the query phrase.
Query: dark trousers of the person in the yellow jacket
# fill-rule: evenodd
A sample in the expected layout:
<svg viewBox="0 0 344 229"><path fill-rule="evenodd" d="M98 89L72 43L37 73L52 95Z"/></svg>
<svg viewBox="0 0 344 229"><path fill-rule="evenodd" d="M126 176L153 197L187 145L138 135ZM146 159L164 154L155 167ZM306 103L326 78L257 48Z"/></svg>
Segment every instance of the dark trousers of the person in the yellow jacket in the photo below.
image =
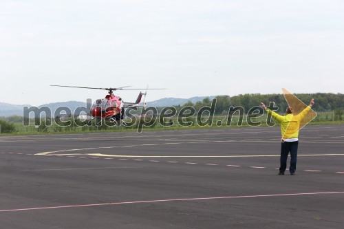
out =
<svg viewBox="0 0 344 229"><path fill-rule="evenodd" d="M279 167L279 172L284 173L287 168L287 159L290 152L290 173L295 173L297 169L297 146L299 146L299 141L297 142L282 142L281 143L281 167Z"/></svg>

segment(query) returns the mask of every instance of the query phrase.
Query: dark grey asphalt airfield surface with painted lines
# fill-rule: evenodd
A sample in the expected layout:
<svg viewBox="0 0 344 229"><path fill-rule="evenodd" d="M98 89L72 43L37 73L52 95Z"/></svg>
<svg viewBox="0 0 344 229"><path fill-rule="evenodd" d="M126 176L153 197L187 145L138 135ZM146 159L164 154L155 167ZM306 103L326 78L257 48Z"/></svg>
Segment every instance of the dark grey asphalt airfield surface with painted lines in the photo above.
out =
<svg viewBox="0 0 344 229"><path fill-rule="evenodd" d="M1 228L342 228L344 126L0 137Z"/></svg>

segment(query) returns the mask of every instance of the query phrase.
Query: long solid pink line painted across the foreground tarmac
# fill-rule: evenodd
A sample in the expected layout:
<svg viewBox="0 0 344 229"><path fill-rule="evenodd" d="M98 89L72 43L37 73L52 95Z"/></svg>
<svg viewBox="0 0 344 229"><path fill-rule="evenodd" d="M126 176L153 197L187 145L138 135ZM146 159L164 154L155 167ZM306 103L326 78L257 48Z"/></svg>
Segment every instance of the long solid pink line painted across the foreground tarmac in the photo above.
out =
<svg viewBox="0 0 344 229"><path fill-rule="evenodd" d="M147 204L147 203L161 203L172 201L197 201L197 200L212 200L212 199L240 199L240 198L255 198L255 197L286 197L286 196L300 196L300 195L330 195L330 194L344 194L344 192L326 192L326 193L286 193L286 194L271 194L271 195L240 195L231 197L203 197L203 198L187 198L187 199L155 199L144 201L127 201L127 202L115 202L115 203L103 203L103 204L80 204L80 205L66 205L66 206L50 206L41 208L17 208L17 209L5 209L0 212L19 212L24 210L48 210L58 208L82 208L82 207L94 207L94 206L114 206L122 204Z"/></svg>

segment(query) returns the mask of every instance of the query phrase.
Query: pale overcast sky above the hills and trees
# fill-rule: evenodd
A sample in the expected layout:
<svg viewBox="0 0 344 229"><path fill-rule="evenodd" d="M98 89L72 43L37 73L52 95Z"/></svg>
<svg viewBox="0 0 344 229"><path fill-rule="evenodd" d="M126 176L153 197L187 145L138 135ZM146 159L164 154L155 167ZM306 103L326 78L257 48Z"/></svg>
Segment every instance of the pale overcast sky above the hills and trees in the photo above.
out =
<svg viewBox="0 0 344 229"><path fill-rule="evenodd" d="M343 0L0 0L0 102L344 93L343 63Z"/></svg>

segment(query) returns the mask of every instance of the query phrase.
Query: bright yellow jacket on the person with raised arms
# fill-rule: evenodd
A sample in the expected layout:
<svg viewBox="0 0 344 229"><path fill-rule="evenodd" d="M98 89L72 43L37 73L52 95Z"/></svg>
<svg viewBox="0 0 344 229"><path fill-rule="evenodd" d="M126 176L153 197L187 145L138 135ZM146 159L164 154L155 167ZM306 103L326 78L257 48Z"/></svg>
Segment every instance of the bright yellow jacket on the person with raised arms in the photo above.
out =
<svg viewBox="0 0 344 229"><path fill-rule="evenodd" d="M266 109L266 111L281 124L282 140L285 140L288 138L299 138L300 122L310 109L312 109L311 106L306 107L297 116L292 115L292 113L281 116L270 109Z"/></svg>

